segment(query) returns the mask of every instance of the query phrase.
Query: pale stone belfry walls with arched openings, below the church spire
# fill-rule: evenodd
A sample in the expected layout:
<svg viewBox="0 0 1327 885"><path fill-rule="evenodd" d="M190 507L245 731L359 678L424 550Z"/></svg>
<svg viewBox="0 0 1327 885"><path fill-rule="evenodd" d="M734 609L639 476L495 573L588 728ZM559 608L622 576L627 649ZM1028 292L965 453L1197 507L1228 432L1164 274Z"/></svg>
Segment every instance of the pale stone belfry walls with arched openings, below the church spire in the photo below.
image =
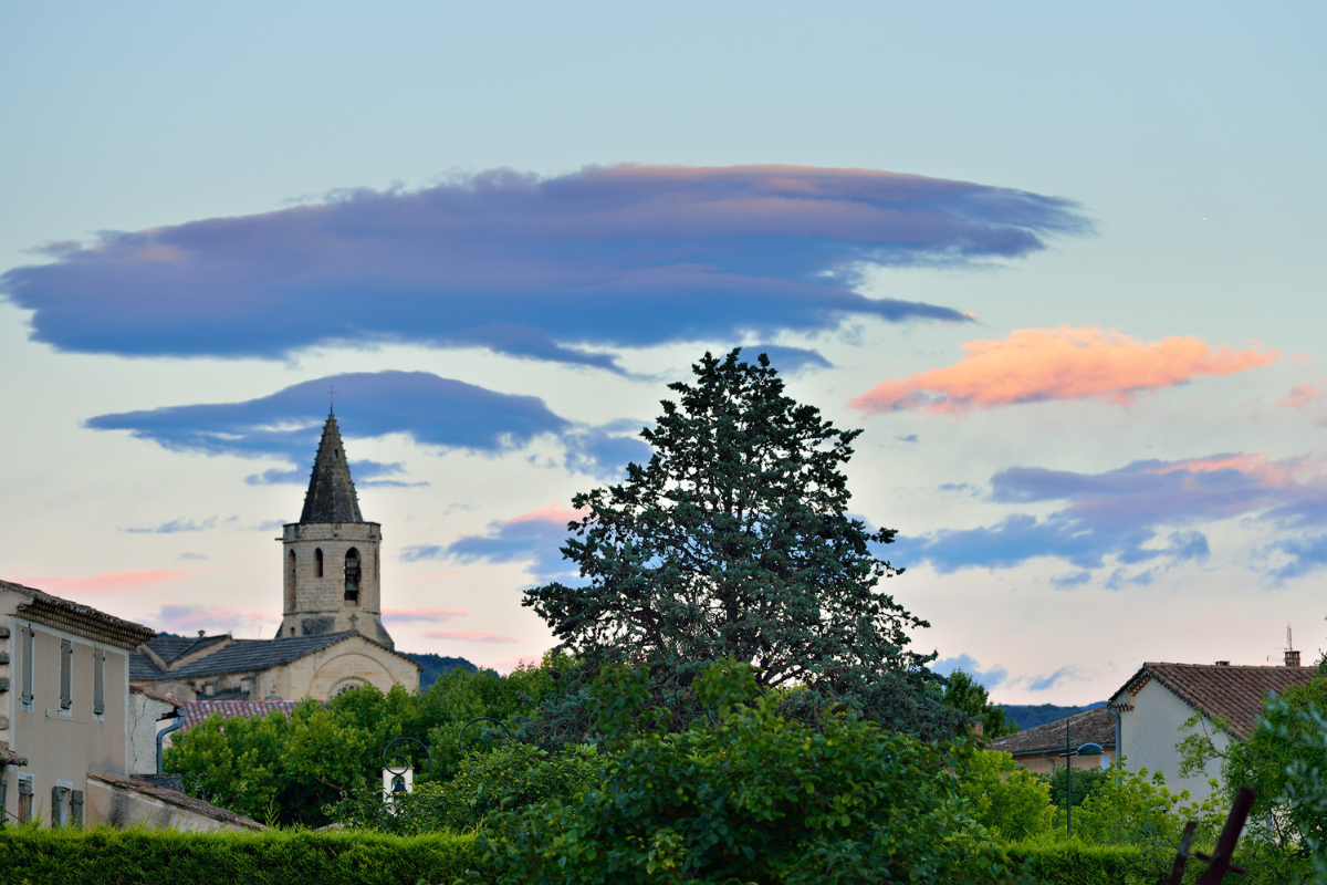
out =
<svg viewBox="0 0 1327 885"><path fill-rule="evenodd" d="M317 636L356 629L393 647L381 620L377 523L293 523L281 537L284 573L280 636ZM348 588L348 555L358 563L357 592ZM354 597L354 598L352 598Z"/></svg>

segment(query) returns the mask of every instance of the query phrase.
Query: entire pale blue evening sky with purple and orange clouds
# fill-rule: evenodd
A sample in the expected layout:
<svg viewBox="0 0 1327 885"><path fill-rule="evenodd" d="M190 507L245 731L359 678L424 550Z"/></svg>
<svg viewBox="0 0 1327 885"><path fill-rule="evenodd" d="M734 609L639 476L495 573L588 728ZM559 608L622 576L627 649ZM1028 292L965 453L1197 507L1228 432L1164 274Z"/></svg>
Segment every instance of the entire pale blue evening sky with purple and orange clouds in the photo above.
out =
<svg viewBox="0 0 1327 885"><path fill-rule="evenodd" d="M0 577L271 637L336 414L398 649L510 669L707 350L864 434L1005 703L1327 647L1327 9L0 5Z"/></svg>

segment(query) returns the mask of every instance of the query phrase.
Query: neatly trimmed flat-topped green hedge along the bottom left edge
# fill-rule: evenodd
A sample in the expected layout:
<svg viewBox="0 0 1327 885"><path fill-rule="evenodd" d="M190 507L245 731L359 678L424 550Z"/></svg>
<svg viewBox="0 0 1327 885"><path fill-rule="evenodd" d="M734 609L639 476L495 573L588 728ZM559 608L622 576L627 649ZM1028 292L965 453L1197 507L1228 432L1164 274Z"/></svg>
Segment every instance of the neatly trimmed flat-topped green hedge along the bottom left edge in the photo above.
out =
<svg viewBox="0 0 1327 885"><path fill-rule="evenodd" d="M453 833L0 829L4 885L451 885L470 869L474 836Z"/></svg>

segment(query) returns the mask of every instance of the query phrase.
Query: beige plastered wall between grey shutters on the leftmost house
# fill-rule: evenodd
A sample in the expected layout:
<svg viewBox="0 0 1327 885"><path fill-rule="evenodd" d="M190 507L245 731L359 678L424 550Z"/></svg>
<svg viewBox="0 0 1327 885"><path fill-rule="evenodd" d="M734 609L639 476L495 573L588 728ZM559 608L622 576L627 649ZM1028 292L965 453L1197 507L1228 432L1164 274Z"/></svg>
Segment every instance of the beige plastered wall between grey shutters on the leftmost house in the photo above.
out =
<svg viewBox="0 0 1327 885"><path fill-rule="evenodd" d="M19 779L33 780L33 809L40 808L46 820L50 816L52 787L81 789L86 795L88 770L100 768L115 774L129 767L129 722L125 699L129 694L129 657L125 649L102 645L92 640L35 624L17 617L15 609L27 597L5 593L0 597L0 624L9 628L8 666L11 690L0 695L8 707L8 747L28 759L25 767L7 767L5 809L17 812ZM33 701L31 710L21 702L21 642L23 626L31 625L33 637ZM72 701L69 710L60 709L60 641L73 644ZM93 713L93 650L106 653L105 713Z"/></svg>

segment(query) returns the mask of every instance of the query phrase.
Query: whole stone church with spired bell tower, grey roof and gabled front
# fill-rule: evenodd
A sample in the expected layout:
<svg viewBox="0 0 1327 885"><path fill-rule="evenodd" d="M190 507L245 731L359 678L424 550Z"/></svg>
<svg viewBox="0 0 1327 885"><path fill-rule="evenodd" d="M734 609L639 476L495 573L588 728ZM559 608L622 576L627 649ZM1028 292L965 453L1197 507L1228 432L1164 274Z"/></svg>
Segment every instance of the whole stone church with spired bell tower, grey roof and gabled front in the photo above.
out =
<svg viewBox="0 0 1327 885"><path fill-rule="evenodd" d="M336 415L328 415L300 521L281 537L281 626L272 640L158 636L130 682L179 701L296 701L372 685L419 687L419 665L382 625L382 527L364 520Z"/></svg>

